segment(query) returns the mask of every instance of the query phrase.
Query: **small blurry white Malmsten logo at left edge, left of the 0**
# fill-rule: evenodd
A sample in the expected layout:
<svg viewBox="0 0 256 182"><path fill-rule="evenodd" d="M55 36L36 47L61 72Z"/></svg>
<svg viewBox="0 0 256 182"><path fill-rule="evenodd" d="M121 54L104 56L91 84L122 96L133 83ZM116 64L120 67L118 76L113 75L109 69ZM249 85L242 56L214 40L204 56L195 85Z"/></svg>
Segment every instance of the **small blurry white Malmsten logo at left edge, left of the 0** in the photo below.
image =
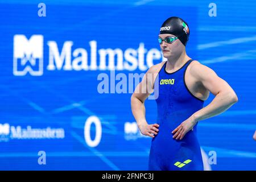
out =
<svg viewBox="0 0 256 182"><path fill-rule="evenodd" d="M10 126L9 123L0 124L0 142L8 142L10 139L64 139L63 128L32 128L27 126Z"/></svg>

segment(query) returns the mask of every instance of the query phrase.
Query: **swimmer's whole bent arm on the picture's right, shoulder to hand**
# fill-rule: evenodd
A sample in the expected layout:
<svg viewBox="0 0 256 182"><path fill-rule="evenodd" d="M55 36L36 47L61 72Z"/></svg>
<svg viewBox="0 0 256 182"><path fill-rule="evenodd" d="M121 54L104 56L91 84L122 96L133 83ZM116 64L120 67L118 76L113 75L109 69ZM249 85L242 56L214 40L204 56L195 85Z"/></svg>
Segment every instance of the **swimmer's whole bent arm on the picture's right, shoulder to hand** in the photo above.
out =
<svg viewBox="0 0 256 182"><path fill-rule="evenodd" d="M225 80L218 77L209 67L195 63L191 65L189 72L215 97L209 105L196 111L172 131L172 134L174 134L173 138L176 139L183 139L184 135L189 130L192 130L197 122L223 113L238 101L238 97L231 86Z"/></svg>

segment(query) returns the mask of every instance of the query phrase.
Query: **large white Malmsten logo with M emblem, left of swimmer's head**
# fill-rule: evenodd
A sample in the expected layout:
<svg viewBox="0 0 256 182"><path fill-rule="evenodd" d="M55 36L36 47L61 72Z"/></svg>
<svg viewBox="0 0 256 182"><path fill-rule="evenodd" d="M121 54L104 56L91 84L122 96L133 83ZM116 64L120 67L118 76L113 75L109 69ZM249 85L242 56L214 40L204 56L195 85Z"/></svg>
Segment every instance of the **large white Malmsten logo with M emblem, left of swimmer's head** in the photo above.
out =
<svg viewBox="0 0 256 182"><path fill-rule="evenodd" d="M32 35L27 39L25 35L14 35L13 74L24 76L42 76L44 72L44 38L43 35ZM120 48L97 49L96 40L89 42L89 50L85 48L73 49L72 41L65 41L62 49L55 41L47 41L48 71L105 71L127 70L146 71L154 61L163 61L164 57L159 49L145 49L144 43L139 43L137 49Z"/></svg>

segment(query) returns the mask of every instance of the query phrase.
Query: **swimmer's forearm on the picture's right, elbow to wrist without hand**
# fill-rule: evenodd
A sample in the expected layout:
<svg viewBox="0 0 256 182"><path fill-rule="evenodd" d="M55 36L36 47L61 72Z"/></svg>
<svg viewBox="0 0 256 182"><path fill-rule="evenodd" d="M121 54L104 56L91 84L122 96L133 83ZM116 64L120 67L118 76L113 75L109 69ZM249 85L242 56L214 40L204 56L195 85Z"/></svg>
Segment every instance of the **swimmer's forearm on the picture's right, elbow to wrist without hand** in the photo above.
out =
<svg viewBox="0 0 256 182"><path fill-rule="evenodd" d="M192 118L195 119L196 122L211 118L228 110L229 107L234 105L237 101L238 98L236 94L220 92L214 97L209 105L203 107L203 109L200 109L199 111L196 111L196 113L192 115Z"/></svg>

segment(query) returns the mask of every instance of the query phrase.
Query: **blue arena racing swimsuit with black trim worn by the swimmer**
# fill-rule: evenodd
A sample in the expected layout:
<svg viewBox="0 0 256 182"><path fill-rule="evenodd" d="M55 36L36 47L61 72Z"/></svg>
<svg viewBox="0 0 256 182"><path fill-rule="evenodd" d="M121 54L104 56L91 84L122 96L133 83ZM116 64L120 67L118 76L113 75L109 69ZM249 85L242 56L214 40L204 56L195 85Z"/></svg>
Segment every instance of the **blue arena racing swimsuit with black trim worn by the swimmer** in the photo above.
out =
<svg viewBox="0 0 256 182"><path fill-rule="evenodd" d="M179 70L166 72L166 63L158 77L159 132L152 138L149 170L203 170L200 144L196 137L196 126L182 140L173 139L171 133L181 122L203 108L204 101L193 96L185 85L185 71L193 60L188 60ZM156 82L155 82L156 84ZM154 85L155 92L156 85Z"/></svg>

